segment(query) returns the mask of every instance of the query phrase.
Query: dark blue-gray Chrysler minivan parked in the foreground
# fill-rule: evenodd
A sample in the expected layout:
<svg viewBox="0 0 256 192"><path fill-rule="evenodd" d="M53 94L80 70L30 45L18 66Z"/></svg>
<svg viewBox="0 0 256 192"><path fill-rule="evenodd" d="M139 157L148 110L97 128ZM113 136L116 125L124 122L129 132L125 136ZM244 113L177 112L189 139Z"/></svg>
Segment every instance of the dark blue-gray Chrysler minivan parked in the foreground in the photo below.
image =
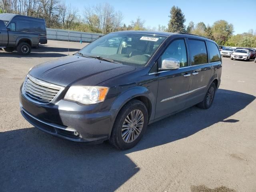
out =
<svg viewBox="0 0 256 192"><path fill-rule="evenodd" d="M210 39L113 32L72 56L34 66L20 87L20 109L49 134L77 142L109 140L124 150L152 122L193 105L210 108L221 71L218 45Z"/></svg>

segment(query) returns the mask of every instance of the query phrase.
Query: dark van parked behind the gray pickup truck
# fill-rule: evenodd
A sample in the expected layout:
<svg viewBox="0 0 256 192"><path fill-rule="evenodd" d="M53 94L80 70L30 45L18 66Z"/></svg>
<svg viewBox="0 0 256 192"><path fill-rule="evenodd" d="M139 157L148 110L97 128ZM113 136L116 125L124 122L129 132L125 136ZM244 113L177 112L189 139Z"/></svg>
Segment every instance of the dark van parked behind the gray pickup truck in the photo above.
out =
<svg viewBox="0 0 256 192"><path fill-rule="evenodd" d="M47 43L45 20L12 13L0 14L0 20L4 21L7 29L17 32L28 32L39 35L40 44Z"/></svg>

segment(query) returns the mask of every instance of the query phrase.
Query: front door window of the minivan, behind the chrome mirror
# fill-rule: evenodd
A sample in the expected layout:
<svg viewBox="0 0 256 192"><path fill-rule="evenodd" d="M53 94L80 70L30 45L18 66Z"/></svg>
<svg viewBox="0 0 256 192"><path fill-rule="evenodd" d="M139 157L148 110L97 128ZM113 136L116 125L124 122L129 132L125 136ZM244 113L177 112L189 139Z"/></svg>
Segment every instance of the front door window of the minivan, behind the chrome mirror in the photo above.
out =
<svg viewBox="0 0 256 192"><path fill-rule="evenodd" d="M184 39L178 39L171 42L168 48L162 54L161 59L175 58L180 60L180 67L188 66L187 50Z"/></svg>

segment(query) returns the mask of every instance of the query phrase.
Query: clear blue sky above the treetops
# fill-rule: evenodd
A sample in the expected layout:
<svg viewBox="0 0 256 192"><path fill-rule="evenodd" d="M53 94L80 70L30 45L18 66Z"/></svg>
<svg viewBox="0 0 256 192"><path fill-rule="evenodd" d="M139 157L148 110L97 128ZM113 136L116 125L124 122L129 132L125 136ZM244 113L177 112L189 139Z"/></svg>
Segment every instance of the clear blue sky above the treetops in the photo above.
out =
<svg viewBox="0 0 256 192"><path fill-rule="evenodd" d="M138 16L145 20L144 26L168 26L170 8L178 6L185 15L185 25L204 22L206 26L217 20L226 20L234 25L234 34L256 31L256 0L66 0L67 4L78 8L82 15L85 6L108 2L116 11L124 15L123 22L128 25Z"/></svg>

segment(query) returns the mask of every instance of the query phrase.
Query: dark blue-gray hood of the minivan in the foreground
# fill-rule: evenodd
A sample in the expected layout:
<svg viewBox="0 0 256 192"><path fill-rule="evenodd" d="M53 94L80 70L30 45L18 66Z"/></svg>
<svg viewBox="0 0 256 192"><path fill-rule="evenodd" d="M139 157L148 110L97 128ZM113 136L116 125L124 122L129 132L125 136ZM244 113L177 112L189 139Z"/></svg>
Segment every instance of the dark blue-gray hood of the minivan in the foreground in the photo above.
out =
<svg viewBox="0 0 256 192"><path fill-rule="evenodd" d="M29 74L56 85L97 85L135 67L80 56L67 56L34 66Z"/></svg>

